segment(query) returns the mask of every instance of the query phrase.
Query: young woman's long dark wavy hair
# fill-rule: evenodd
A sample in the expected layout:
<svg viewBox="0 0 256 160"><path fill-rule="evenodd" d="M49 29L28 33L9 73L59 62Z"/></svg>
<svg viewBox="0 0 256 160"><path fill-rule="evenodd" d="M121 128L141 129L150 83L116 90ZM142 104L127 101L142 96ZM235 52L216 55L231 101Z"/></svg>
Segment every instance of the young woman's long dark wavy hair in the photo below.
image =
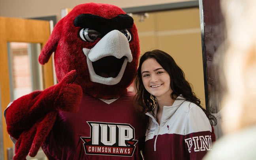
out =
<svg viewBox="0 0 256 160"><path fill-rule="evenodd" d="M151 95L145 89L141 77L141 65L145 60L149 58L154 58L170 75L170 86L171 90L173 90L170 95L171 98L177 99L176 97L182 94L186 101L195 103L203 110L203 112L205 112L211 125L216 125L215 116L209 114L209 112L201 106L201 101L198 97L196 97L188 81L186 81L183 70L179 68L174 59L168 53L161 50L147 51L144 55L141 56L139 61L139 68L137 70L135 79L137 93L134 98L134 103L137 105L137 107L140 107L141 113L151 112L152 115L156 118L156 115L153 112L153 109L157 103L156 97Z"/></svg>

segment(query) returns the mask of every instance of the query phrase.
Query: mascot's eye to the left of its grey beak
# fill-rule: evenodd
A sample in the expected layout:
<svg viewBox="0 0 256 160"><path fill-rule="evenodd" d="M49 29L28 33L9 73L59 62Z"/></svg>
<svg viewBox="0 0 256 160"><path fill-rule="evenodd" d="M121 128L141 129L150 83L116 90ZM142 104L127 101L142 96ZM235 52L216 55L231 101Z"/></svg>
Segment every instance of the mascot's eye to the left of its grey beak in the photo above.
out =
<svg viewBox="0 0 256 160"><path fill-rule="evenodd" d="M83 39L86 42L95 42L95 40L100 37L100 33L89 29L89 28L83 28L80 30L79 35L81 39Z"/></svg>

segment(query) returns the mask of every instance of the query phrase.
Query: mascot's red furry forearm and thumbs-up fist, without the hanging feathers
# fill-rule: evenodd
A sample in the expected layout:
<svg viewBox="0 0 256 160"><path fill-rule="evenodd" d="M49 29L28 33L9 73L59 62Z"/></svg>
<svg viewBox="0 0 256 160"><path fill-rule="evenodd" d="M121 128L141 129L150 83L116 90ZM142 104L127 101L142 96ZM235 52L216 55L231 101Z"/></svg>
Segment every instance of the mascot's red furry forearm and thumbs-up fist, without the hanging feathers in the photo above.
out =
<svg viewBox="0 0 256 160"><path fill-rule="evenodd" d="M6 113L7 131L18 139L34 123L53 110L77 112L82 97L81 86L73 84L75 70L60 83L43 91L35 91L13 101Z"/></svg>

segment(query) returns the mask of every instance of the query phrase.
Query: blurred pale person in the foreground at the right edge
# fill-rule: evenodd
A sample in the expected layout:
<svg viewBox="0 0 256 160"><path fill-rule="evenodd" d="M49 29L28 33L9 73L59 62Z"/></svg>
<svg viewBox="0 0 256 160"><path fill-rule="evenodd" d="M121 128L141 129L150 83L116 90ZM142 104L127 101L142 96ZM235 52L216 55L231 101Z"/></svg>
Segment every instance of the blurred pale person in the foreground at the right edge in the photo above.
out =
<svg viewBox="0 0 256 160"><path fill-rule="evenodd" d="M256 160L256 1L222 0L228 50L224 55L226 93L224 136L205 160Z"/></svg>

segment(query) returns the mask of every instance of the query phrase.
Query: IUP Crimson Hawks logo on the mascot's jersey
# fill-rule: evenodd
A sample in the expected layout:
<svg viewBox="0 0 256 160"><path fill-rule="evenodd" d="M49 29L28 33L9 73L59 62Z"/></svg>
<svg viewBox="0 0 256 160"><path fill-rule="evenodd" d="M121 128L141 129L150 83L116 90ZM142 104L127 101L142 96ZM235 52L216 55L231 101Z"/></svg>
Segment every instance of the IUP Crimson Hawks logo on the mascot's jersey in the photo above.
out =
<svg viewBox="0 0 256 160"><path fill-rule="evenodd" d="M134 128L125 123L87 121L90 137L83 140L86 154L132 156L138 140L134 140Z"/></svg>

